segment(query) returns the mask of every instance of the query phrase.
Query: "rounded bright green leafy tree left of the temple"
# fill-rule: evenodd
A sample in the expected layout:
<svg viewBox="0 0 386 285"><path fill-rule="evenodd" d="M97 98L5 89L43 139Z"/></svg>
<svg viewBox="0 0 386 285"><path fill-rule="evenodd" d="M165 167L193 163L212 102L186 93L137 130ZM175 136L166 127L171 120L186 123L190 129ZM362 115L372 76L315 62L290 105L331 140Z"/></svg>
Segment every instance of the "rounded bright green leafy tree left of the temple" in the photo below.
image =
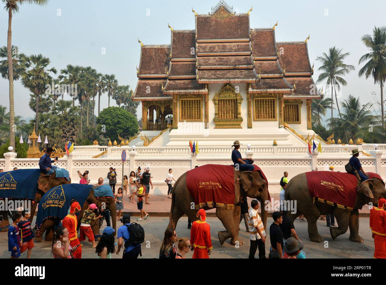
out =
<svg viewBox="0 0 386 285"><path fill-rule="evenodd" d="M109 107L103 109L97 118L99 129L105 126L105 132L102 131L105 138L117 139L118 135L123 138L129 138L137 134L138 121L127 112L119 107Z"/></svg>

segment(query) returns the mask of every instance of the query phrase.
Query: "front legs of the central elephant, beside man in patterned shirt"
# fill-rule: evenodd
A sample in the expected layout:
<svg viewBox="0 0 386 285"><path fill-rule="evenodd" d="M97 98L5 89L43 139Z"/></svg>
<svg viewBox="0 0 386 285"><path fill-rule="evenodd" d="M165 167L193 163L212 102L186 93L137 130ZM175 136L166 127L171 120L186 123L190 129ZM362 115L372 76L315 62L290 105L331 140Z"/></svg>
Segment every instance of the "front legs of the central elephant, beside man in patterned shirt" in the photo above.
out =
<svg viewBox="0 0 386 285"><path fill-rule="evenodd" d="M230 244L235 245L237 242L240 244L238 231L236 231L235 222L233 219L233 213L233 209L227 209L226 207L216 208L216 215L225 227L225 230L218 232L218 240L220 241L221 245L223 245L224 242L229 238L231 238ZM239 225L237 225L237 228L238 227Z"/></svg>

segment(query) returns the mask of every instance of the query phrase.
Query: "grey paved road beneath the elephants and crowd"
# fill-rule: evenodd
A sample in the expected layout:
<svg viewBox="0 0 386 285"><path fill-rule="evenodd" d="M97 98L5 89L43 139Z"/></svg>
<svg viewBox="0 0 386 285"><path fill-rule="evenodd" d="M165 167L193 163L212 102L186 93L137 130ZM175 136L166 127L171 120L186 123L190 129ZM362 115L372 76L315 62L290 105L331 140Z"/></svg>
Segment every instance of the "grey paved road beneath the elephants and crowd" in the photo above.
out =
<svg viewBox="0 0 386 285"><path fill-rule="evenodd" d="M271 218L270 218L271 219ZM268 220L268 225L271 220ZM178 237L190 237L190 230L187 229L187 218L181 218L177 225ZM142 244L142 258L158 258L159 247L163 239L164 231L168 225L169 219L167 217L149 217L146 221L141 221L141 225L145 229L145 243ZM211 258L248 258L249 254L249 234L244 229L244 222L241 224L240 237L244 241L244 245L236 248L225 242L223 246L220 245L217 238L217 232L224 230L218 218L208 217L207 222L211 227L213 250ZM374 253L374 242L371 238L371 231L369 229L369 218L360 218L359 234L364 239L363 243L356 243L349 240L349 232L339 236L335 241L332 240L329 234L328 227L325 226L325 221L318 220L318 230L323 239L328 243L315 243L308 239L307 222L300 222L295 220L295 227L298 236L303 241L304 251L307 258L372 258ZM118 224L121 225L121 224ZM105 224L103 225L103 227ZM102 227L102 229L103 229ZM266 242L266 251L269 250L269 231ZM91 243L82 242L82 257L95 258L94 249L91 248ZM147 244L147 247L146 247ZM25 258L27 253L22 253L22 258ZM267 255L267 254L266 254ZM192 253L188 253L188 258L191 258ZM7 245L7 233L0 232L0 258L9 258ZM257 257L257 254L256 254ZM32 258L52 258L51 257L51 242L42 241L36 243L32 250ZM113 254L113 258L122 258L122 255Z"/></svg>

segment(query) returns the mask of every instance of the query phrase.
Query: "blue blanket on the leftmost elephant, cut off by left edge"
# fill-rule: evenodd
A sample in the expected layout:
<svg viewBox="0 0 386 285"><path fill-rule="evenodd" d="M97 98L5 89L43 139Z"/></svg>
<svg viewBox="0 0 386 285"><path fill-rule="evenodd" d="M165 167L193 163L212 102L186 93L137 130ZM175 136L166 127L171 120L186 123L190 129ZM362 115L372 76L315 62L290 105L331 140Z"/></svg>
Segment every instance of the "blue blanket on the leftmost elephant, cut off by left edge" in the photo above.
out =
<svg viewBox="0 0 386 285"><path fill-rule="evenodd" d="M0 199L34 200L40 169L18 169L0 172Z"/></svg>

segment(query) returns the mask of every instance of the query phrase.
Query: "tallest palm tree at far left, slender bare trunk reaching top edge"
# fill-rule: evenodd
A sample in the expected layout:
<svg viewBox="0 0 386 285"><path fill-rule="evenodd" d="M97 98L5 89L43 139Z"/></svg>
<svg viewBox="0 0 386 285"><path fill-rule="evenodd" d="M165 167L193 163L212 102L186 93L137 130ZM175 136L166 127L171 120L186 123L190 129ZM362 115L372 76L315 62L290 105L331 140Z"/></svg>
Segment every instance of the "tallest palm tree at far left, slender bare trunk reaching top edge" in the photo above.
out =
<svg viewBox="0 0 386 285"><path fill-rule="evenodd" d="M8 33L7 33L7 57L8 57L8 81L9 81L9 145L15 149L15 133L13 126L15 125L15 106L14 106L14 67L12 60L12 14L19 12L19 5L37 4L45 5L48 0L3 0L5 3L5 9L8 11Z"/></svg>

